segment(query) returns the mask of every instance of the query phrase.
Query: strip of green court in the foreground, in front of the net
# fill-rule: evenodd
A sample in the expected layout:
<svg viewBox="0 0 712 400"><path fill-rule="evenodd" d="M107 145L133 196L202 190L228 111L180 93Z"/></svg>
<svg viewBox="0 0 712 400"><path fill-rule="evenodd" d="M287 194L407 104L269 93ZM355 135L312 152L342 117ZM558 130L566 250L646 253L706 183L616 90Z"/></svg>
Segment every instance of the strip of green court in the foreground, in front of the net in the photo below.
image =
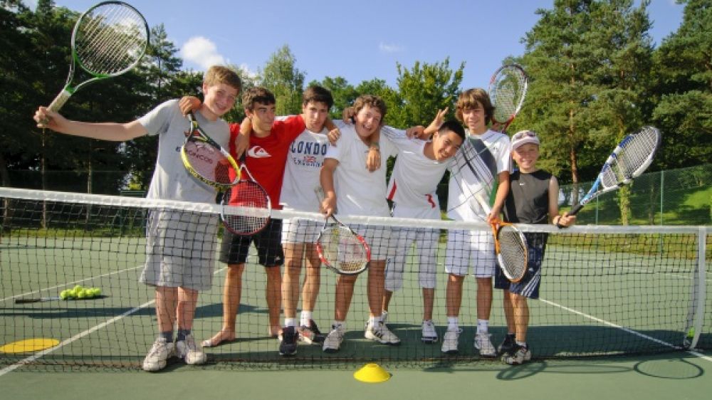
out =
<svg viewBox="0 0 712 400"><path fill-rule="evenodd" d="M348 370L216 371L180 366L145 372L21 372L0 376L3 399L709 399L712 359L651 357L484 362L452 369L387 369L364 383Z"/></svg>

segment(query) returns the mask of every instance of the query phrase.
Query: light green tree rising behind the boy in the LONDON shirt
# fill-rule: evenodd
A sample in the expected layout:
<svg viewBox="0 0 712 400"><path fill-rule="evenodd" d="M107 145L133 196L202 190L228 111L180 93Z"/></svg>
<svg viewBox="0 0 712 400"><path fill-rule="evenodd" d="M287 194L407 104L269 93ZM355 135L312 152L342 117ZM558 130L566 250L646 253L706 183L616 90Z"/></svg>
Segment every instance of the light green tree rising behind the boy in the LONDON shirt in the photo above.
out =
<svg viewBox="0 0 712 400"><path fill-rule="evenodd" d="M295 67L296 58L289 46L272 53L262 70L261 85L271 90L277 100L277 115L301 112L304 73Z"/></svg>

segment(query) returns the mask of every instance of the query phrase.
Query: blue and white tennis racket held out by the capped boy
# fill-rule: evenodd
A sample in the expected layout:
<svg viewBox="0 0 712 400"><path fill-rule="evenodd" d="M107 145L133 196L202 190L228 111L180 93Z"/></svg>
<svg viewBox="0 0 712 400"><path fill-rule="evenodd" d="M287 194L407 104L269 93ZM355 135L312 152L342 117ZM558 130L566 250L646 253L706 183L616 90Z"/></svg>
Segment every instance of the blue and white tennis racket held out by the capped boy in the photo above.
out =
<svg viewBox="0 0 712 400"><path fill-rule="evenodd" d="M573 206L569 215L577 214L591 200L621 186L630 184L653 162L660 146L660 132L654 127L643 127L638 132L624 137L616 146L588 193Z"/></svg>

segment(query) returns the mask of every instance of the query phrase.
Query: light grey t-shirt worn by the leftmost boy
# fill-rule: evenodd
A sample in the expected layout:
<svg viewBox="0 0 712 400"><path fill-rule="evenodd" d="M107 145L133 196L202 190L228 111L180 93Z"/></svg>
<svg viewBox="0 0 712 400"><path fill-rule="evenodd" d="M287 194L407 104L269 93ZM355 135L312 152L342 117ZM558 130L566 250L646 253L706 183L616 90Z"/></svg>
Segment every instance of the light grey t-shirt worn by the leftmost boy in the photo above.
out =
<svg viewBox="0 0 712 400"><path fill-rule="evenodd" d="M230 130L227 122L206 120L195 112L205 133L227 148ZM179 108L178 100L168 100L138 119L148 135L158 135L158 157L147 198L214 203L215 189L194 178L183 166L180 149L185 142L189 122Z"/></svg>

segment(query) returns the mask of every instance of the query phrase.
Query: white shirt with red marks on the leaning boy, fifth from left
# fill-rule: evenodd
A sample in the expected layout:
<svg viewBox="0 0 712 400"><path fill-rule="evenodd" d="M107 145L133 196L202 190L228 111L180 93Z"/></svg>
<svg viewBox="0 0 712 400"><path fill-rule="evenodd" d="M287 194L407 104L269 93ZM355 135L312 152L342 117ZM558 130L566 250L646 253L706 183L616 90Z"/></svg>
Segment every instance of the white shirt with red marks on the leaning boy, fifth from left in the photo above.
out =
<svg viewBox="0 0 712 400"><path fill-rule="evenodd" d="M381 137L388 137L398 148L387 191L387 198L394 202L393 216L440 219L436 189L452 160L429 159L423 154L427 142L409 139L404 130L384 127Z"/></svg>

